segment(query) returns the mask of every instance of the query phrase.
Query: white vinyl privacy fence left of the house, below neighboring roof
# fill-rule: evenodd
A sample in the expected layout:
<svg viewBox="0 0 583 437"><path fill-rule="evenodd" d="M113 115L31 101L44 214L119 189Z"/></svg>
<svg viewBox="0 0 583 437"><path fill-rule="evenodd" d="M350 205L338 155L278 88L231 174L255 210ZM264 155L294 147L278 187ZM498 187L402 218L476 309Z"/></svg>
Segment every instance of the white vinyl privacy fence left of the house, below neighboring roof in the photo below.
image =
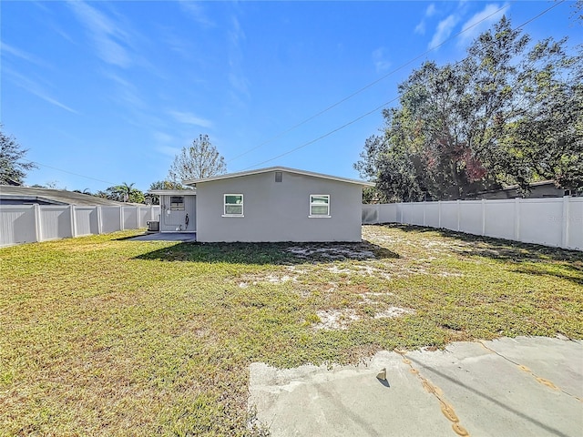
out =
<svg viewBox="0 0 583 437"><path fill-rule="evenodd" d="M2 205L0 247L146 227L159 206Z"/></svg>

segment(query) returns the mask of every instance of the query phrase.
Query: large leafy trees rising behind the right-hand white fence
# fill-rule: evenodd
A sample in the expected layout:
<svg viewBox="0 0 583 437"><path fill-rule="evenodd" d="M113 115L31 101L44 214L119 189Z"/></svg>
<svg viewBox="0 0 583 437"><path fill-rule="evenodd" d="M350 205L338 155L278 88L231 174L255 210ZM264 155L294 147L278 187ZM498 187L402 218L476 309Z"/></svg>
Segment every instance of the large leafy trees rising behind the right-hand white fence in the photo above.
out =
<svg viewBox="0 0 583 437"><path fill-rule="evenodd" d="M414 70L355 168L387 200L527 190L541 178L580 188L581 57L567 56L565 41L529 43L502 18L463 61Z"/></svg>

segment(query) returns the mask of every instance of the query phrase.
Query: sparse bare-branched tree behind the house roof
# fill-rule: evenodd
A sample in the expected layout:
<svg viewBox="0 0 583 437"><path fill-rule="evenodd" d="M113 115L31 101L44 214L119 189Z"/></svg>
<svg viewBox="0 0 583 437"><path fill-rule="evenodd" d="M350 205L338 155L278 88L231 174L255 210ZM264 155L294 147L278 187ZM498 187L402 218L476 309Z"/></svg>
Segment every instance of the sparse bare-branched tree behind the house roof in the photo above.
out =
<svg viewBox="0 0 583 437"><path fill-rule="evenodd" d="M225 159L210 144L208 135L199 135L189 147L182 147L169 169L169 180L209 178L227 171Z"/></svg>

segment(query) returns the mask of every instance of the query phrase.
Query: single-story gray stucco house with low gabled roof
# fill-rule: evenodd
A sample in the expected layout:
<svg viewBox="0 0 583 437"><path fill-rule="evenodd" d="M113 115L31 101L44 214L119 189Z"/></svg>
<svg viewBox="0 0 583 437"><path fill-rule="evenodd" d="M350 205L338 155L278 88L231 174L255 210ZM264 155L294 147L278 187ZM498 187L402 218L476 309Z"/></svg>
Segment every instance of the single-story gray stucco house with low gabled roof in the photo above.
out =
<svg viewBox="0 0 583 437"><path fill-rule="evenodd" d="M271 167L185 180L160 197L160 232L200 242L361 241L363 188L373 183Z"/></svg>

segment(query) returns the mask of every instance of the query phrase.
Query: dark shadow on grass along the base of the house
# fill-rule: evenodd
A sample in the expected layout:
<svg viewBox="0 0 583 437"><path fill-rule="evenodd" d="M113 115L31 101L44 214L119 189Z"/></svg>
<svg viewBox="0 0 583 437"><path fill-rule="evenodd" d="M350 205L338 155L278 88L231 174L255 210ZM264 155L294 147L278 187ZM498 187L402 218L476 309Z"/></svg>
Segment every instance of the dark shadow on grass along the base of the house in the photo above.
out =
<svg viewBox="0 0 583 437"><path fill-rule="evenodd" d="M224 262L230 264L315 264L346 259L395 259L399 254L360 243L179 243L153 250L137 259Z"/></svg>

